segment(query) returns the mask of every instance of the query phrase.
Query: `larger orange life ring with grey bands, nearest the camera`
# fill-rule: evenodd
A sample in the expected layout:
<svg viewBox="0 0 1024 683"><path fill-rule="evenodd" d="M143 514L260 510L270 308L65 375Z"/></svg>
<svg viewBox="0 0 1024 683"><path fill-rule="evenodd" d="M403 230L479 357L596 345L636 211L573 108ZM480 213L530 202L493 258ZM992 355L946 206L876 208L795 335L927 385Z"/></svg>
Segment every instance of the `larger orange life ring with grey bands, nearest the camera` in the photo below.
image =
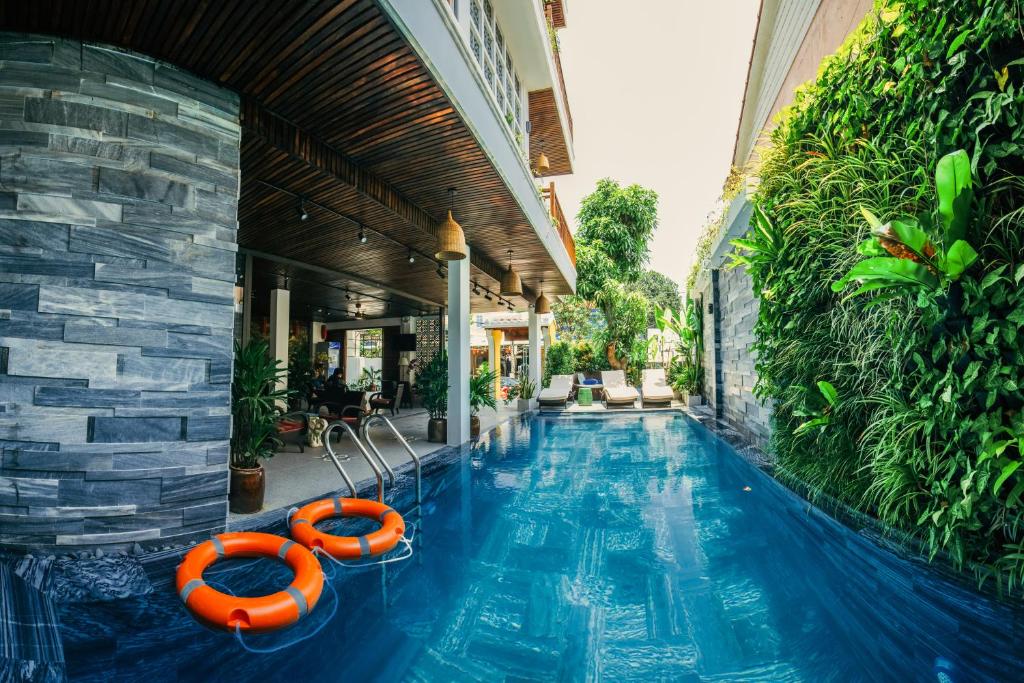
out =
<svg viewBox="0 0 1024 683"><path fill-rule="evenodd" d="M203 571L225 557L276 557L295 580L283 591L259 598L244 598L214 590L203 581ZM181 601L199 618L233 631L272 631L295 624L312 610L324 590L324 570L306 548L271 533L252 531L221 533L199 544L178 567Z"/></svg>

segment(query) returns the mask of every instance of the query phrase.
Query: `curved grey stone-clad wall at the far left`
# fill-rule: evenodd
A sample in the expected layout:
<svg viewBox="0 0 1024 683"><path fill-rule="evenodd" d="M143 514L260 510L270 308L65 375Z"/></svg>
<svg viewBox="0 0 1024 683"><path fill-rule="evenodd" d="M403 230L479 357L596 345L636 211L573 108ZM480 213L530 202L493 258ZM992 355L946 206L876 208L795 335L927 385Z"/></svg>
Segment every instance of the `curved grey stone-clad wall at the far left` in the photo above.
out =
<svg viewBox="0 0 1024 683"><path fill-rule="evenodd" d="M223 528L239 102L0 35L0 545Z"/></svg>

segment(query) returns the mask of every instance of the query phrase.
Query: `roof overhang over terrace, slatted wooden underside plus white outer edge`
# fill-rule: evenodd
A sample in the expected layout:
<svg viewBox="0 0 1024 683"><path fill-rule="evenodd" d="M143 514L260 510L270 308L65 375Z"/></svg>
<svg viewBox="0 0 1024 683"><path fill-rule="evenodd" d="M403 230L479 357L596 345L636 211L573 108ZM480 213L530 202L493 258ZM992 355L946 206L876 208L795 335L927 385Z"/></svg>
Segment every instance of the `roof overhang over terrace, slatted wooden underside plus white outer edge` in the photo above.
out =
<svg viewBox="0 0 1024 683"><path fill-rule="evenodd" d="M120 14L40 0L6 4L0 28L135 50L240 93L243 251L444 305L446 283L427 257L446 188L456 186L473 279L494 289L513 248L520 305L542 279L550 293L571 292L574 267L524 163L510 158L497 118L482 116L482 91L474 96L458 75L469 65L459 58L439 69L424 57L462 46L450 35L447 8L403 2L396 12L392 4L342 0L286 13L278 3L140 0ZM195 96L202 100L202 90ZM299 221L297 195L324 209ZM353 220L370 232L361 248ZM421 255L415 264L410 248ZM494 304L480 297L473 307Z"/></svg>

